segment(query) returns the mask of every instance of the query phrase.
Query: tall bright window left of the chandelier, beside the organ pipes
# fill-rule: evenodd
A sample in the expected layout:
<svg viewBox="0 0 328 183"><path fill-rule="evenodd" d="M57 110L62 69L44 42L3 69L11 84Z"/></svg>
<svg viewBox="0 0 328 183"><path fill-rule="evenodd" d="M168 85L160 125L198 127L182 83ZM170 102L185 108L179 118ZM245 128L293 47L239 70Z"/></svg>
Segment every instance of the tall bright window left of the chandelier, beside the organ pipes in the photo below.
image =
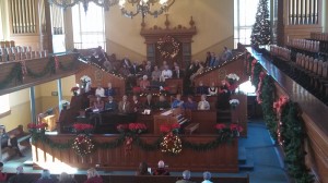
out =
<svg viewBox="0 0 328 183"><path fill-rule="evenodd" d="M85 49L102 46L105 49L104 9L89 3L87 11L79 3L72 8L74 48Z"/></svg>

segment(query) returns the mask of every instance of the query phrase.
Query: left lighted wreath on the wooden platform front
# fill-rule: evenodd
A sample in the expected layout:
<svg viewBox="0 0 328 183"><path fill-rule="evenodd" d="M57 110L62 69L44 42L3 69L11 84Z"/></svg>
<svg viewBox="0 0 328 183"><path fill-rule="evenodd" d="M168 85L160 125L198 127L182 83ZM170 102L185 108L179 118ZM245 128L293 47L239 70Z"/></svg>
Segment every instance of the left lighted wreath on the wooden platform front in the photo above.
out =
<svg viewBox="0 0 328 183"><path fill-rule="evenodd" d="M82 157L91 154L94 150L94 144L85 134L79 134L73 142L72 148Z"/></svg>

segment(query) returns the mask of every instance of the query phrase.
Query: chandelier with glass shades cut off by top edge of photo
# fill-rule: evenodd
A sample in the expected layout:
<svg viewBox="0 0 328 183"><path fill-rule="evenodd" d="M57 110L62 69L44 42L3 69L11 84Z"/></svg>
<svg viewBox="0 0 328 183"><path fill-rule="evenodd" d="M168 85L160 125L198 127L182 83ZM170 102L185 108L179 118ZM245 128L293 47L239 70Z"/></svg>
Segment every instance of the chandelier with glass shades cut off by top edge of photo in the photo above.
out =
<svg viewBox="0 0 328 183"><path fill-rule="evenodd" d="M150 14L154 17L167 12L175 0L119 0L121 13L128 17L134 17L139 13L144 17Z"/></svg>

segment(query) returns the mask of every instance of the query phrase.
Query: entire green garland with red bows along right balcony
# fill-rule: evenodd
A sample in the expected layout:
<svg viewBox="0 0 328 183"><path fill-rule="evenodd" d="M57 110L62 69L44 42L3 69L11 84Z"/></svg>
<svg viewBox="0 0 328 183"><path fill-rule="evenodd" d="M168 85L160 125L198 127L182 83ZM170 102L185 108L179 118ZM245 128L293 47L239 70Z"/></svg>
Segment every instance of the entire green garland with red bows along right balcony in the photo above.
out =
<svg viewBox="0 0 328 183"><path fill-rule="evenodd" d="M253 85L258 86L261 66L256 63L253 72ZM306 136L304 122L298 115L296 105L292 101L284 103L280 109L280 119L277 119L277 103L274 103L276 86L273 78L267 75L262 80L260 89L263 119L272 138L283 147L285 164L290 175L297 183L312 183L313 175L305 164L304 138ZM276 111L274 111L276 109Z"/></svg>

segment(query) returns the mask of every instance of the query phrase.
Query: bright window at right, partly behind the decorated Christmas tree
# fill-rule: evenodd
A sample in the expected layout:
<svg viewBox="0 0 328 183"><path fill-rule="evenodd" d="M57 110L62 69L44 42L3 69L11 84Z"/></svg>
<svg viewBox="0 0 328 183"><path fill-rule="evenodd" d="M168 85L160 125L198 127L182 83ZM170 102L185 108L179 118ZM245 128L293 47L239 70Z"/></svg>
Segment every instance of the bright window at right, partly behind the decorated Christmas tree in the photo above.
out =
<svg viewBox="0 0 328 183"><path fill-rule="evenodd" d="M234 44L250 45L251 26L255 23L259 0L234 0Z"/></svg>

